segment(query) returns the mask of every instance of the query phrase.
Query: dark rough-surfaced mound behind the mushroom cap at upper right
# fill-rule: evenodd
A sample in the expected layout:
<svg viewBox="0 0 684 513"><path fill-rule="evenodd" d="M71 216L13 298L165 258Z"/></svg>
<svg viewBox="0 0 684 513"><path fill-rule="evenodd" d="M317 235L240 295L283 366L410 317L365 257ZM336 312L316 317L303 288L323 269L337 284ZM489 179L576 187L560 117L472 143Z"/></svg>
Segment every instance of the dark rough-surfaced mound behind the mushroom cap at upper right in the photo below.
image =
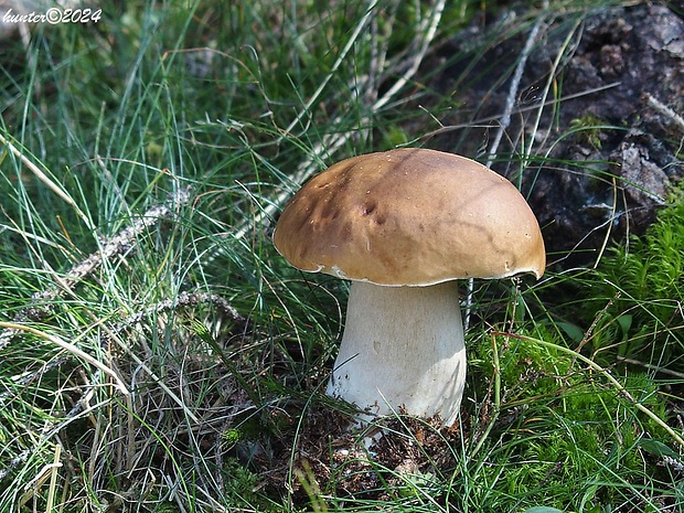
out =
<svg viewBox="0 0 684 513"><path fill-rule="evenodd" d="M442 50L442 63L450 55L463 55L434 78L440 94L451 95L462 106L442 122L461 128L445 130L431 146L487 160L481 150L499 128L510 72L523 54L530 30L504 39L483 55L468 49L474 47L473 41L491 38L492 31L505 32L502 26L515 25L522 17L510 11L507 21L475 24ZM574 21L571 13L560 14L539 31L511 125L498 148L500 162L492 165L514 183L520 179L543 226L548 253L566 267L591 261L606 241L643 233L684 175L681 11L650 2L601 9L580 20L564 46ZM565 55L554 71L552 63L563 49ZM546 100L554 101L533 130L536 106L552 75ZM530 141L537 158L519 177L520 167L514 169L511 162L521 162L521 143Z"/></svg>

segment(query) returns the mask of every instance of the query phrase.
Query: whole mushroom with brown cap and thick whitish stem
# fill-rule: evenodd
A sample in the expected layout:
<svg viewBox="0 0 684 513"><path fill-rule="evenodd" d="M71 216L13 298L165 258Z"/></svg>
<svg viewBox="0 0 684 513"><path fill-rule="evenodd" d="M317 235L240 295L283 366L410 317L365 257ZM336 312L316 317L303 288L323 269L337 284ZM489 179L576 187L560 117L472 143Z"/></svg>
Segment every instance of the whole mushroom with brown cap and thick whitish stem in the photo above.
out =
<svg viewBox="0 0 684 513"><path fill-rule="evenodd" d="M327 394L373 415L459 414L466 349L459 278L544 272L539 225L515 186L428 149L339 162L290 200L274 234L295 267L352 280Z"/></svg>

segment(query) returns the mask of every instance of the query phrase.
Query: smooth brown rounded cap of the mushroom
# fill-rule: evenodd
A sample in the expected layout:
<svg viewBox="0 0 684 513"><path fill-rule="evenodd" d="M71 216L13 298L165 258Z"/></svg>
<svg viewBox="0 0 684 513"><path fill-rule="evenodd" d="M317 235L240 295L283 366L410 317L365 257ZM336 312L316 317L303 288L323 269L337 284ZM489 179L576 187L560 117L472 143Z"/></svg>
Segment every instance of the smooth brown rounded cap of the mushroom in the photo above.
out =
<svg viewBox="0 0 684 513"><path fill-rule="evenodd" d="M546 263L539 225L511 182L427 149L330 167L290 200L274 244L301 270L388 286L538 278Z"/></svg>

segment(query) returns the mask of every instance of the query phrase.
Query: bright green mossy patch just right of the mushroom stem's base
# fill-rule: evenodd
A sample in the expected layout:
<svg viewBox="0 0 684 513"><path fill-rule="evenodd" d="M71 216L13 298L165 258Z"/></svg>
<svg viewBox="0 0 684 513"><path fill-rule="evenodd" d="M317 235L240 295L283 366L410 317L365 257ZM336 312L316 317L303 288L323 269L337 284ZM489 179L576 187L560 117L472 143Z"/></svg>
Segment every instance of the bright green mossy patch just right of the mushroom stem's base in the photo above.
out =
<svg viewBox="0 0 684 513"><path fill-rule="evenodd" d="M522 338L495 336L495 343L482 339L473 348L471 378L495 386L493 377L501 377L489 464L478 479L498 482L496 493L563 511L607 511L620 504L620 487L610 483L618 475L624 487L643 481L649 462L640 442L659 439L662 429L638 413L614 384L563 350L560 334L541 323L516 332ZM666 417L658 385L645 373L629 373L619 382L640 404ZM568 490L568 482L576 487Z"/></svg>

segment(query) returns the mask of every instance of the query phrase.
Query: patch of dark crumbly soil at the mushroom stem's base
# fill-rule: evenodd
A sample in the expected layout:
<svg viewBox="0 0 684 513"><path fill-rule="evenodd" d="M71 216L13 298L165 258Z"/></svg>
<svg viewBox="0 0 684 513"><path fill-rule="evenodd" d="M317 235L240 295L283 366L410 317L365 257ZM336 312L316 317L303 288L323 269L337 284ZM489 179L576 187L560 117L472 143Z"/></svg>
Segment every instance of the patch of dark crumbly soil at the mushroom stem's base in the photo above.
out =
<svg viewBox="0 0 684 513"><path fill-rule="evenodd" d="M321 492L338 498L391 500L410 493L412 483L443 482L457 464L457 448L467 443L466 424L442 427L441 419L406 415L360 427L352 415L318 403L302 414L300 429L278 437L268 458L252 461L263 485L284 489L297 501ZM467 418L467 417L464 417ZM264 455L264 452L261 452Z"/></svg>

